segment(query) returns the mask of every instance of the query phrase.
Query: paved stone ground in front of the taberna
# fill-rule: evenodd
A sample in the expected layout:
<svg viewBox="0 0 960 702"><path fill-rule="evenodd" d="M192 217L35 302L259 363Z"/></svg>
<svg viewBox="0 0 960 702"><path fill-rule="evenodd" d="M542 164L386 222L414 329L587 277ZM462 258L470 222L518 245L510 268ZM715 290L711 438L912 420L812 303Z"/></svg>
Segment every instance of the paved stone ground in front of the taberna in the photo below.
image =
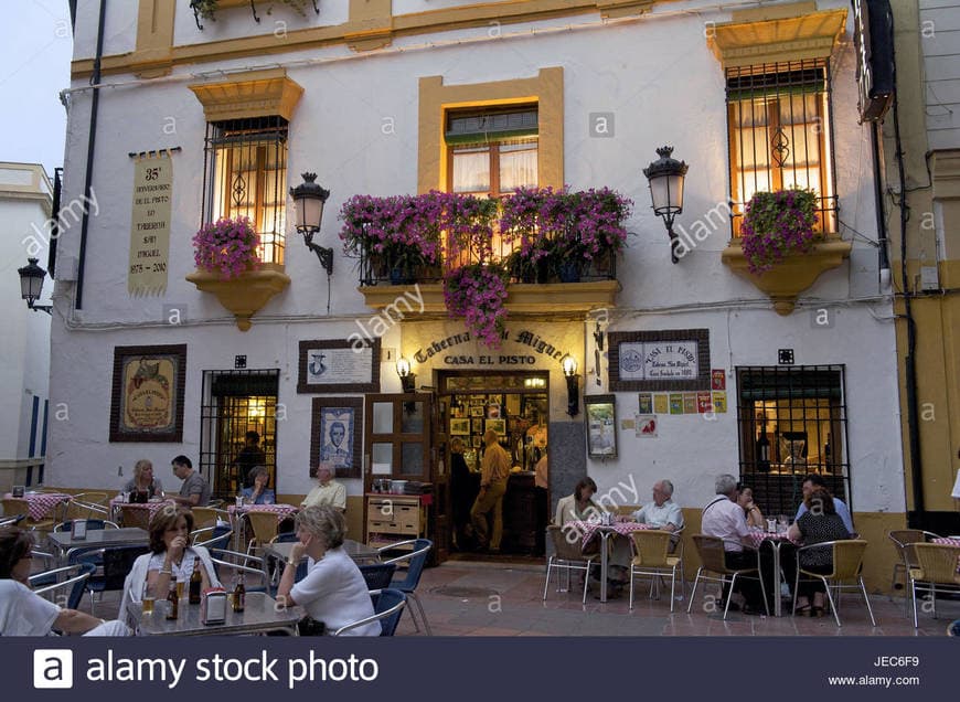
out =
<svg viewBox="0 0 960 702"><path fill-rule="evenodd" d="M687 615L687 600L679 600L671 614L669 594L659 600L648 599L647 586L638 589L630 610L626 589L606 604L591 591L583 605L583 591L557 593L556 579L544 602L543 585L543 566L448 561L424 571L417 593L435 636L945 636L947 625L960 618L960 602L940 600L938 618L921 611L920 628L914 629L903 598L890 600L888 595L872 594L877 621L872 627L862 598L845 593L840 608L842 627L829 616L778 618L730 613L724 621L722 611L704 610L703 586L697 592L698 604ZM715 589L708 592L716 594ZM407 615L397 635L415 635Z"/></svg>

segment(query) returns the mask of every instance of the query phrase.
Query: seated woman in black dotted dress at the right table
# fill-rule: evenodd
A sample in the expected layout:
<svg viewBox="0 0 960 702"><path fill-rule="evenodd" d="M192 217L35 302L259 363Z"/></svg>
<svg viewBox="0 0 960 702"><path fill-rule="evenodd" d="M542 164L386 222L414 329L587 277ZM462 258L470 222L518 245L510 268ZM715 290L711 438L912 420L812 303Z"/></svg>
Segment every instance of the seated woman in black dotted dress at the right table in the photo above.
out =
<svg viewBox="0 0 960 702"><path fill-rule="evenodd" d="M833 497L825 488L814 489L807 496L804 503L807 511L800 519L790 524L788 533L792 541L809 546L825 541L850 539L850 532L846 530L843 519L833 507ZM800 567L812 573L830 573L833 570L833 551L826 547L803 551L800 553ZM794 577L794 574L790 573L788 577ZM823 594L823 581L801 578L794 614L822 617L824 611ZM811 595L813 596L812 607L810 606Z"/></svg>

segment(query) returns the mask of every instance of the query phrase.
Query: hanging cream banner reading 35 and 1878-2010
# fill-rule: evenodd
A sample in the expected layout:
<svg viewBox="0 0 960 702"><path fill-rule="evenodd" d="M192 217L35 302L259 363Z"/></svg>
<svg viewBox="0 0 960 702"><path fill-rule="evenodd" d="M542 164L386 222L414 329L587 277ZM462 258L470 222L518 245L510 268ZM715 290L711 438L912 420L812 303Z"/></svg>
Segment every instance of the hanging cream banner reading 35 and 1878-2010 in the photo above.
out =
<svg viewBox="0 0 960 702"><path fill-rule="evenodd" d="M130 295L161 295L167 290L172 191L173 161L169 153L137 159L127 276Z"/></svg>

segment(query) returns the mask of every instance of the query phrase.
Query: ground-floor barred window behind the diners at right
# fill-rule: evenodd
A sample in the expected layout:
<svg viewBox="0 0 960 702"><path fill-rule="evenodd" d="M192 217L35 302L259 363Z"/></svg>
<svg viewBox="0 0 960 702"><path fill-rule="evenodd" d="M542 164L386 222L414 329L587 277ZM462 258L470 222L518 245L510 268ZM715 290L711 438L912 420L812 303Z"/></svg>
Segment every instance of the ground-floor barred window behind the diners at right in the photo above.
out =
<svg viewBox="0 0 960 702"><path fill-rule="evenodd" d="M737 369L740 479L765 514L793 515L807 474L850 503L842 365Z"/></svg>

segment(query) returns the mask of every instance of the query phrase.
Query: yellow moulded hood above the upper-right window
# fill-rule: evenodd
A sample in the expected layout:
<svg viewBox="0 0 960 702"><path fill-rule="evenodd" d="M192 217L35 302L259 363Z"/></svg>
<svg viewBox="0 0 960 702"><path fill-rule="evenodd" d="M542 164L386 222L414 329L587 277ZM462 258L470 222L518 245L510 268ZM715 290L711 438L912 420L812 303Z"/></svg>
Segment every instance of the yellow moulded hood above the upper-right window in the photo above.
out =
<svg viewBox="0 0 960 702"><path fill-rule="evenodd" d="M792 7L792 6L791 6ZM807 3L798 3L802 11ZM846 28L846 9L762 21L724 22L707 45L724 68L830 56Z"/></svg>

